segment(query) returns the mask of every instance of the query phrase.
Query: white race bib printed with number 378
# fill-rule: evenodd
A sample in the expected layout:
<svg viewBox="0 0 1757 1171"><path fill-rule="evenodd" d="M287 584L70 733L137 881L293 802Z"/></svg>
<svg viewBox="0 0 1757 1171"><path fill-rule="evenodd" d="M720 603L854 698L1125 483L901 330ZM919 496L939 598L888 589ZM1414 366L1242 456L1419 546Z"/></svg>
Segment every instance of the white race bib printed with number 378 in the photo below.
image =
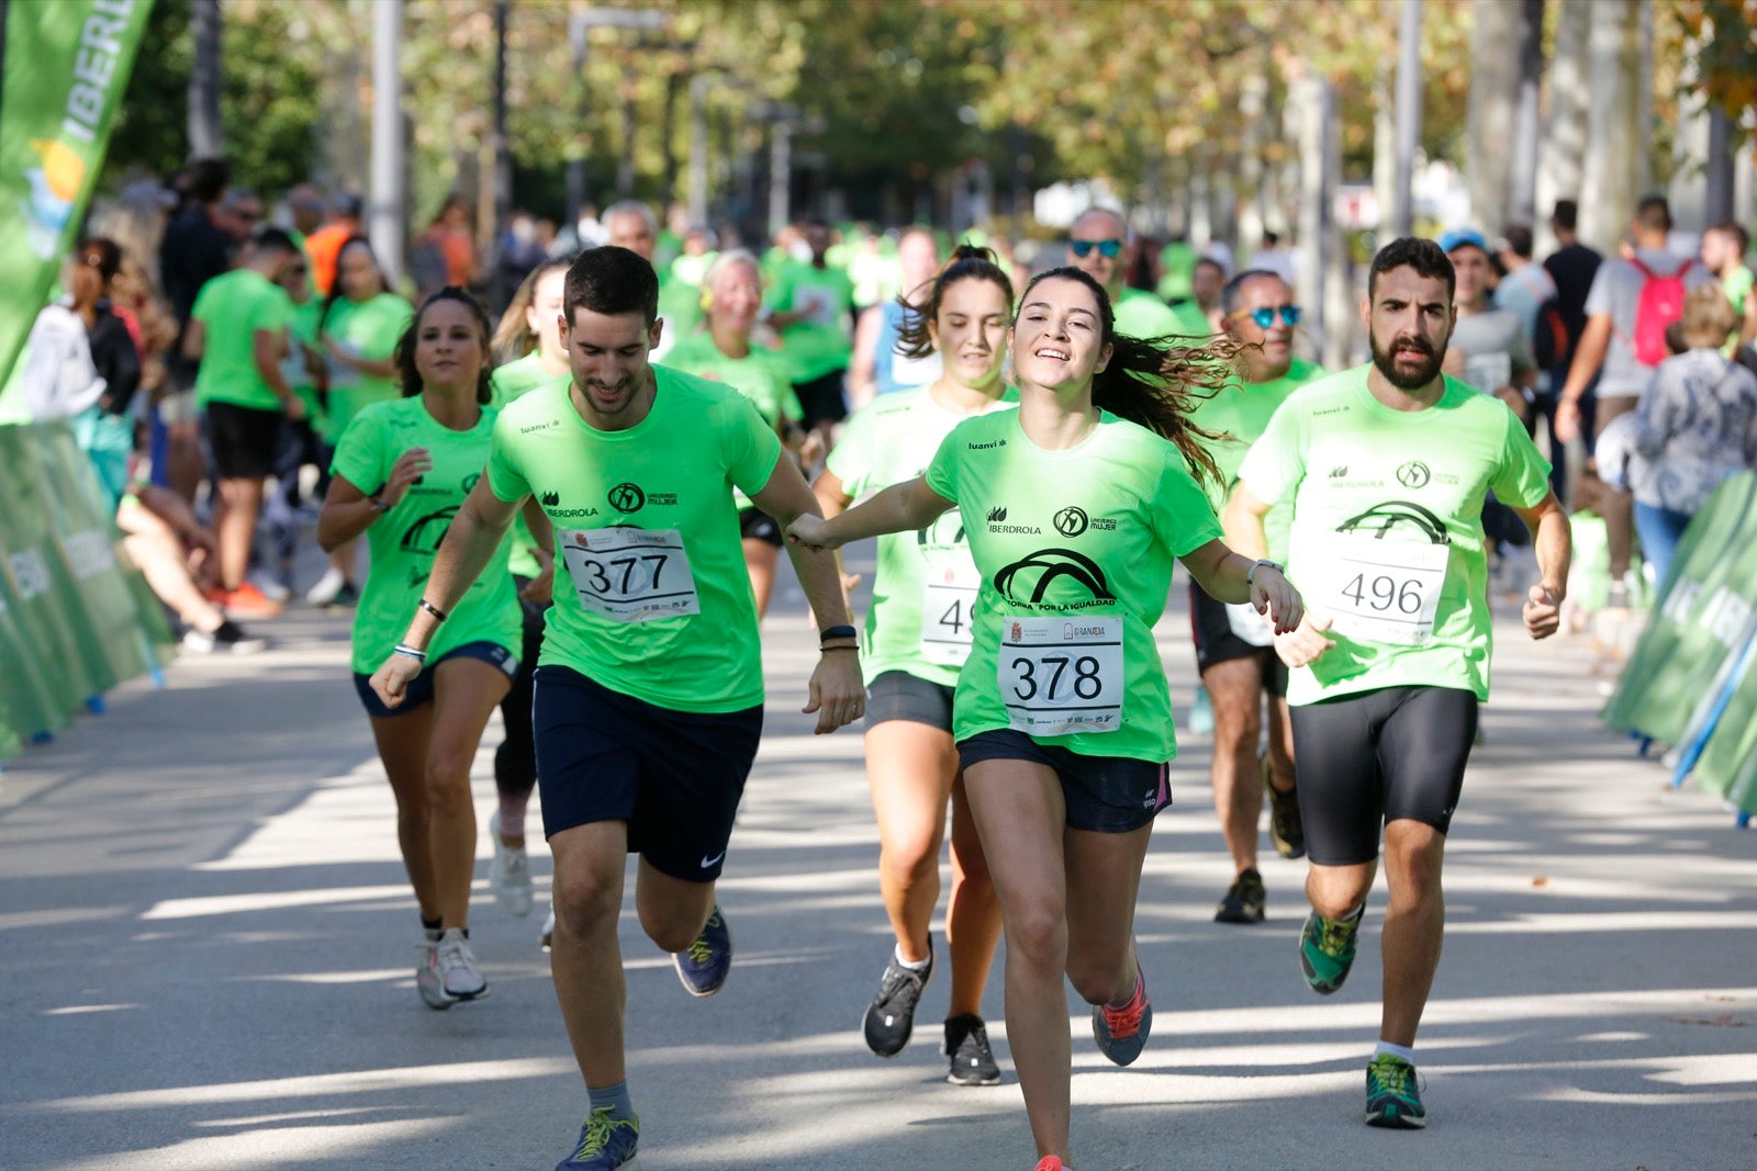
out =
<svg viewBox="0 0 1757 1171"><path fill-rule="evenodd" d="M1012 727L1031 736L1123 727L1123 620L1003 614L996 678Z"/></svg>

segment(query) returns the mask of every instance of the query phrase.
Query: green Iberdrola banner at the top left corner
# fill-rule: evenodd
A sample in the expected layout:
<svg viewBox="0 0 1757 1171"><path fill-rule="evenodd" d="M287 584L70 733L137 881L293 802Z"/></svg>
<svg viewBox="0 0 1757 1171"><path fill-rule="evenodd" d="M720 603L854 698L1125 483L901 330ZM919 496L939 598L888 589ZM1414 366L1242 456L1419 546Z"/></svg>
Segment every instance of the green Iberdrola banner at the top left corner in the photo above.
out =
<svg viewBox="0 0 1757 1171"><path fill-rule="evenodd" d="M0 0L0 384L91 202L153 0Z"/></svg>

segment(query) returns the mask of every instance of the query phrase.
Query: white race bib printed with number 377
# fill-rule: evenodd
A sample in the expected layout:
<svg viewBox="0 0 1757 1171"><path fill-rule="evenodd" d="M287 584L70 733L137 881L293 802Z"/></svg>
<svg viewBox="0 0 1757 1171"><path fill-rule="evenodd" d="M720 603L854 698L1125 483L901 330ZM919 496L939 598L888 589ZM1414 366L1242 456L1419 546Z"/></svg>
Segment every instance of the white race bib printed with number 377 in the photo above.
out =
<svg viewBox="0 0 1757 1171"><path fill-rule="evenodd" d="M676 528L568 528L557 548L589 613L617 621L701 613Z"/></svg>

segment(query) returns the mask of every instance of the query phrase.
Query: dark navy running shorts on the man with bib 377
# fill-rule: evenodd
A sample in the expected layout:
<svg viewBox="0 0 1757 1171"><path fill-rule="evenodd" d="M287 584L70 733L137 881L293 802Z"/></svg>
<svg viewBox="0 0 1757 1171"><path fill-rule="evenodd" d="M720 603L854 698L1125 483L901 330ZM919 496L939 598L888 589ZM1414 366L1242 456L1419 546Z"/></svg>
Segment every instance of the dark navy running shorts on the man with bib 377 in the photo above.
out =
<svg viewBox="0 0 1757 1171"><path fill-rule="evenodd" d="M629 853L692 883L720 876L763 737L763 704L671 711L578 671L538 667L531 706L543 834L627 822Z"/></svg>

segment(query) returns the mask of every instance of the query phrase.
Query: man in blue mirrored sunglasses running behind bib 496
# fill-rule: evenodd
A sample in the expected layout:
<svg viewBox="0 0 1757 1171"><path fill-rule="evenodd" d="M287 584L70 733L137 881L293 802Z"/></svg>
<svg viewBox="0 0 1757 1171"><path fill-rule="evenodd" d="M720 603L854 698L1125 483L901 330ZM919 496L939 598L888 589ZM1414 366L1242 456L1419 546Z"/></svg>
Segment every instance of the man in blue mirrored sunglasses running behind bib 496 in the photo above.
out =
<svg viewBox="0 0 1757 1171"><path fill-rule="evenodd" d="M1212 399L1200 399L1197 425L1219 439L1204 441L1219 467L1209 492L1221 513L1239 483L1244 453L1269 428L1269 420L1293 390L1323 369L1293 356L1300 307L1279 274L1247 269L1221 286L1216 302L1221 328L1239 344L1239 372ZM1286 557L1288 509L1269 518L1269 558ZM1189 627L1197 669L1214 709L1214 811L1232 855L1233 881L1214 909L1219 923L1263 922L1263 876L1256 867L1256 825L1269 792L1269 837L1284 858L1305 853L1298 795L1293 788L1293 723L1288 716L1288 669L1276 658L1274 637L1249 606L1216 602L1189 585ZM1269 723L1269 753L1258 741Z"/></svg>

